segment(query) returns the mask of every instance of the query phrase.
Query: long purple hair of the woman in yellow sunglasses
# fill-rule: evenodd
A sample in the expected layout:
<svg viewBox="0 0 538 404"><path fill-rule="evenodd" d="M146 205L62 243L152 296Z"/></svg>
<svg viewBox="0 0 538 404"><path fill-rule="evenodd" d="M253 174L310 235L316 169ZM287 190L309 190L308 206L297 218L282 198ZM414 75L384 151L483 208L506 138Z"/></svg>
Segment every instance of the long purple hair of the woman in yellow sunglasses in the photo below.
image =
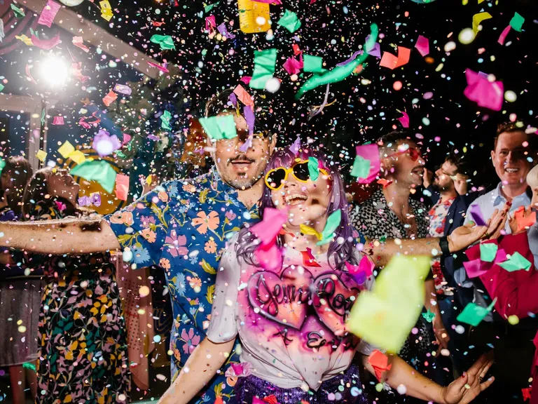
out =
<svg viewBox="0 0 538 404"><path fill-rule="evenodd" d="M357 265L358 262L353 255L353 228L350 224L348 204L345 198L342 177L340 177L340 173L338 173L338 171L333 170L331 166L329 166L326 161L326 157L322 152L317 149L301 149L296 155L288 148L280 149L271 157L271 160L265 168L265 173L263 176L265 177L265 174L273 168L289 168L293 166L295 159L308 160L309 157L315 157L320 163L322 163L322 166L324 166L324 168L329 172L329 175L331 175L331 201L327 207L326 216L329 217L331 213L338 209L340 209L342 212L340 226L335 231L336 236L329 244L329 252L327 254L327 257L329 257L329 262L337 269L342 269L345 262ZM263 195L260 200L261 219L263 219L263 212L266 208L275 208L275 204L271 199L271 190L265 185L264 181ZM244 227L240 230L238 237L238 243L236 245L237 257L241 257L248 264L259 267L259 264L253 260L254 250L257 248L256 236L249 231L248 227ZM338 239L343 241L343 243L338 243ZM277 237L277 244L281 247L284 245L282 236Z"/></svg>

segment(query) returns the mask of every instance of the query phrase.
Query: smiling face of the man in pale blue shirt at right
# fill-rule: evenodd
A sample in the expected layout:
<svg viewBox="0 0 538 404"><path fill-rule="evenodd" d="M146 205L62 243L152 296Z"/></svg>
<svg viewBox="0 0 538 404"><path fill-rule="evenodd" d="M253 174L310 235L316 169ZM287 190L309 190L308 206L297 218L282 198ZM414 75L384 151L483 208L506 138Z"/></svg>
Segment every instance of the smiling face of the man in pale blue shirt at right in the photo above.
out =
<svg viewBox="0 0 538 404"><path fill-rule="evenodd" d="M505 185L525 183L531 165L525 155L524 142L527 142L527 134L523 131L504 132L497 137L497 147L491 152L491 160Z"/></svg>

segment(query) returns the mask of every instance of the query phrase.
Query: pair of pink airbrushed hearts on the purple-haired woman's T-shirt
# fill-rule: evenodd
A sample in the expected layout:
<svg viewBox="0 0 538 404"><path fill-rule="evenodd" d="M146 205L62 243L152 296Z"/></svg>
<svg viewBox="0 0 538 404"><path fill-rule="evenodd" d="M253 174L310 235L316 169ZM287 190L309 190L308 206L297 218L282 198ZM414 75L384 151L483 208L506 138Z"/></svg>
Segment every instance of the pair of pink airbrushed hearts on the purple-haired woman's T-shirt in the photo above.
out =
<svg viewBox="0 0 538 404"><path fill-rule="evenodd" d="M265 318L277 321L296 330L303 323L312 306L319 320L334 335L345 333L345 321L358 288L348 288L334 272L314 279L308 269L284 269L278 276L274 272L260 271L247 283L249 302Z"/></svg>

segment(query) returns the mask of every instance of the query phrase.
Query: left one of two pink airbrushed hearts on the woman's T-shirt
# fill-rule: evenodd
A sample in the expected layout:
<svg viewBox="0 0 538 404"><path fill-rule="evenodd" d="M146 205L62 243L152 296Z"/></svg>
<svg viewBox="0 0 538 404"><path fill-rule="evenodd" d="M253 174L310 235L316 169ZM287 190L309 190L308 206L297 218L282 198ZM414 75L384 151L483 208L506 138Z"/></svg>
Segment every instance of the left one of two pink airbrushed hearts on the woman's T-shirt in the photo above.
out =
<svg viewBox="0 0 538 404"><path fill-rule="evenodd" d="M281 276L256 272L247 284L249 302L266 318L300 330L308 311L312 279L308 269L303 274L284 270Z"/></svg>

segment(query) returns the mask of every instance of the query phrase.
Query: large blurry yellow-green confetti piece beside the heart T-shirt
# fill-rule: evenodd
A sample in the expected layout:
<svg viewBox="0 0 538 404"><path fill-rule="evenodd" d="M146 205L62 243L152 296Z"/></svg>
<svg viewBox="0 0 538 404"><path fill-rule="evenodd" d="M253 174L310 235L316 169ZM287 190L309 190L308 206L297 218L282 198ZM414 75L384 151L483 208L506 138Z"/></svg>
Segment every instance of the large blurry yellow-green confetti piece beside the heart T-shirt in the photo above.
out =
<svg viewBox="0 0 538 404"><path fill-rule="evenodd" d="M428 257L392 257L372 292L357 297L347 329L380 349L398 352L420 316L428 271Z"/></svg>

